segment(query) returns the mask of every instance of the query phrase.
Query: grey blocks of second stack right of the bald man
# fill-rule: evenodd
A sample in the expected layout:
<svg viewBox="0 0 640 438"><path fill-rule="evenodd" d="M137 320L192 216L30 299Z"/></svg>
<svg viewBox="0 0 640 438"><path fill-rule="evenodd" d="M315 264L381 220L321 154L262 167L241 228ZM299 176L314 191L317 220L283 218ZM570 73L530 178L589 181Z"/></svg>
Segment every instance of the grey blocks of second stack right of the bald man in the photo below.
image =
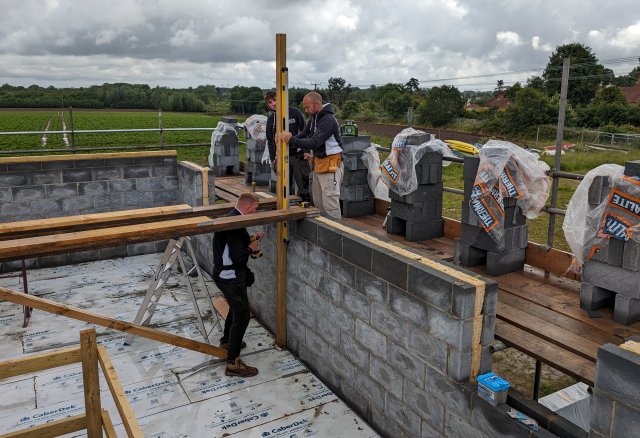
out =
<svg viewBox="0 0 640 438"><path fill-rule="evenodd" d="M407 138L407 145L429 141L430 134ZM442 154L425 152L415 166L418 188L408 195L389 190L391 210L387 216L387 232L404 234L410 242L441 237L442 219Z"/></svg>

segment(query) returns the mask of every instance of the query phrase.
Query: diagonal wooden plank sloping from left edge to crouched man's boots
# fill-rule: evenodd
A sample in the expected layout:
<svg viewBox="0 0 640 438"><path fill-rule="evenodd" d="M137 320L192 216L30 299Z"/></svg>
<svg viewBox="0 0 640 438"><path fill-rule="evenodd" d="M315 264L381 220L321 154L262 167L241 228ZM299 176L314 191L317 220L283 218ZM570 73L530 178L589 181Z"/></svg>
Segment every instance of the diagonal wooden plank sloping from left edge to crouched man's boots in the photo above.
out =
<svg viewBox="0 0 640 438"><path fill-rule="evenodd" d="M154 341L175 345L176 347L182 347L188 350L209 354L211 356L216 356L222 359L227 357L227 350L225 350L224 348L215 347L213 345L194 341L188 338L183 338L182 336L174 335L171 333L164 333L160 330L152 329L149 327L131 324L119 319L109 318L107 316L89 312L85 309L78 309L77 307L56 303L55 301L47 300L45 298L38 298L33 295L14 292L4 287L0 287L0 299L11 301L12 303L20 304L22 306L33 307L34 309L43 310L45 312L55 313L56 315L62 315L67 318L73 318L79 321L88 322L90 324L99 325L101 327L108 327L121 332L131 333L143 338L153 339Z"/></svg>

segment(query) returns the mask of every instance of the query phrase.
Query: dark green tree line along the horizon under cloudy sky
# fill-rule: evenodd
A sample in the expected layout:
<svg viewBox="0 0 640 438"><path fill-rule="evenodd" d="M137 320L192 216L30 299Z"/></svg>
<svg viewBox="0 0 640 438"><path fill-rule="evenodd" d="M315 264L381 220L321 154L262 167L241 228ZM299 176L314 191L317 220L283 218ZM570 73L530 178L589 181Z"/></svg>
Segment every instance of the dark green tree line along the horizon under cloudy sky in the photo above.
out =
<svg viewBox="0 0 640 438"><path fill-rule="evenodd" d="M446 126L464 121L464 129L493 135L527 136L536 126L555 123L558 114L562 63L571 58L566 126L601 128L640 127L640 108L627 104L620 87L632 86L640 78L640 66L615 76L598 61L591 49L579 43L559 46L541 76L526 83L504 86L498 80L492 91L459 90L451 85L423 88L411 78L404 84L389 83L369 88L352 87L343 78L329 78L317 90L331 102L341 118L361 121L405 122L413 109L414 120L423 126ZM290 88L291 105L301 107L308 88ZM103 84L87 88L0 87L0 107L5 108L115 108L162 109L186 112L264 113L265 90L259 87L151 88L139 84ZM510 100L506 111L497 108L465 109L482 105L493 97ZM640 132L640 131L639 131Z"/></svg>

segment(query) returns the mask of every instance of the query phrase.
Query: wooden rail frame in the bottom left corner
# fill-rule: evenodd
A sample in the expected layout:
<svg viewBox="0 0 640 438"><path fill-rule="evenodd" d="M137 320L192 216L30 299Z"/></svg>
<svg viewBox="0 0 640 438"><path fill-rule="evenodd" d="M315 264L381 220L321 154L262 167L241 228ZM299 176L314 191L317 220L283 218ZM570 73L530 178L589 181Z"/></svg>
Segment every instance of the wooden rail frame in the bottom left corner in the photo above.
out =
<svg viewBox="0 0 640 438"><path fill-rule="evenodd" d="M39 353L0 362L0 380L77 362L82 363L85 402L84 414L3 434L0 435L0 438L56 437L84 429L87 430L89 438L101 438L103 430L108 438L117 437L109 412L103 410L101 407L98 364L100 364L102 368L127 435L129 438L144 437L138 420L129 404L129 400L124 394L120 379L111 365L107 351L103 346L99 346L96 343L95 329L80 332L79 347L69 347L50 353Z"/></svg>

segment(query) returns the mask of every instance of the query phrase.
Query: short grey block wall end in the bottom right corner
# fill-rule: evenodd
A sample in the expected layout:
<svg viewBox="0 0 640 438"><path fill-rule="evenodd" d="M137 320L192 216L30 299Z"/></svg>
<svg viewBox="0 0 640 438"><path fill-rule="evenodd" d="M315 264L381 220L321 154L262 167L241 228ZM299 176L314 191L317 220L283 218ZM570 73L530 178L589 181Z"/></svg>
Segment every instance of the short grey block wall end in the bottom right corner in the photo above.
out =
<svg viewBox="0 0 640 438"><path fill-rule="evenodd" d="M613 344L598 349L589 436L640 436L640 355Z"/></svg>

